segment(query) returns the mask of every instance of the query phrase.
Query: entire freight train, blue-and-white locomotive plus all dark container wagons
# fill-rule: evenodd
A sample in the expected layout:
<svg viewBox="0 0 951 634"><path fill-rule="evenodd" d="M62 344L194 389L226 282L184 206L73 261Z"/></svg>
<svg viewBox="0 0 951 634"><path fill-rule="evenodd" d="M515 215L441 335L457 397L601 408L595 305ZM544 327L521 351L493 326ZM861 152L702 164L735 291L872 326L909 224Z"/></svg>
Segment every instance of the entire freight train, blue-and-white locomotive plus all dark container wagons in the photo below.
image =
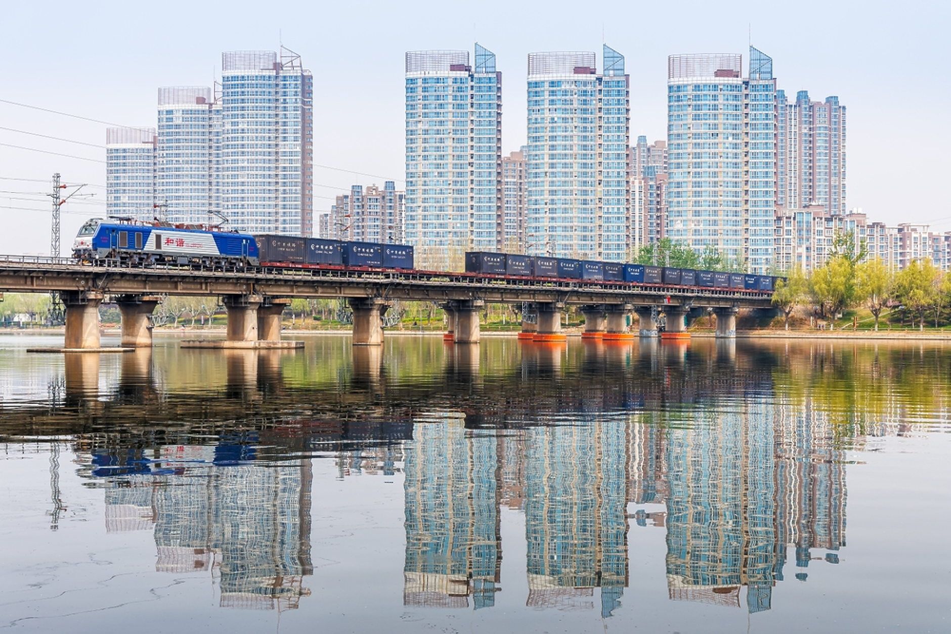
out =
<svg viewBox="0 0 951 634"><path fill-rule="evenodd" d="M92 264L178 265L216 270L248 267L356 271L411 271L413 247L222 231L166 222L87 221L73 242L73 257ZM454 277L583 281L771 293L776 279L589 259L468 252L466 272Z"/></svg>

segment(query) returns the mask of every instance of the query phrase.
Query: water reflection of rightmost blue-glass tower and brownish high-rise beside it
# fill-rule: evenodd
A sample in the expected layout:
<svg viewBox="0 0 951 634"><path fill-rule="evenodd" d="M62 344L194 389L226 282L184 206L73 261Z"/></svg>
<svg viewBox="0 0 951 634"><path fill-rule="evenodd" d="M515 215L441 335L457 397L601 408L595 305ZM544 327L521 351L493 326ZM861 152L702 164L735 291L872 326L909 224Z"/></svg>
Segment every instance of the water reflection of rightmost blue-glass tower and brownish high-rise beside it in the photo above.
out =
<svg viewBox="0 0 951 634"><path fill-rule="evenodd" d="M747 586L747 609L766 610L787 544L801 567L808 548L844 546L844 470L832 431L807 411L745 400L744 413L667 432L673 600L738 606Z"/></svg>

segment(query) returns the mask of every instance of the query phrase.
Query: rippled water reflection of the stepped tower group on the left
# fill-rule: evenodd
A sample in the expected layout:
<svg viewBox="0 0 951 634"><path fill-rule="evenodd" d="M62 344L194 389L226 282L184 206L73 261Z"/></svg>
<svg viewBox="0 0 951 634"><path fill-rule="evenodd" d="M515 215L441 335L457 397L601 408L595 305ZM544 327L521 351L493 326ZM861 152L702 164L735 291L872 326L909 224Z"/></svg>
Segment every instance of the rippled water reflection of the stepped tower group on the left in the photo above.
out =
<svg viewBox="0 0 951 634"><path fill-rule="evenodd" d="M109 481L107 530L154 527L156 570L212 570L223 607L297 607L313 573L310 460L234 464L241 451L224 445L165 447L162 457L181 472Z"/></svg>

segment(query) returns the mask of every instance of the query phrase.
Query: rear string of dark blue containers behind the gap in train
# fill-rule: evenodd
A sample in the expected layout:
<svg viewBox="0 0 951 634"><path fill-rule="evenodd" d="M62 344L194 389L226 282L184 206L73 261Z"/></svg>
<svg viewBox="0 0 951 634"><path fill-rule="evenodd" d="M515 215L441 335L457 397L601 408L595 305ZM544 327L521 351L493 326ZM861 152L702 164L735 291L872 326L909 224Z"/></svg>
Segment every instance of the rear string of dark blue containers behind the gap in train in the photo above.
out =
<svg viewBox="0 0 951 634"><path fill-rule="evenodd" d="M579 279L587 281L689 286L721 290L772 293L775 276L757 276L722 271L698 271L672 266L647 266L591 259L518 256L506 253L466 253L466 273L525 278Z"/></svg>

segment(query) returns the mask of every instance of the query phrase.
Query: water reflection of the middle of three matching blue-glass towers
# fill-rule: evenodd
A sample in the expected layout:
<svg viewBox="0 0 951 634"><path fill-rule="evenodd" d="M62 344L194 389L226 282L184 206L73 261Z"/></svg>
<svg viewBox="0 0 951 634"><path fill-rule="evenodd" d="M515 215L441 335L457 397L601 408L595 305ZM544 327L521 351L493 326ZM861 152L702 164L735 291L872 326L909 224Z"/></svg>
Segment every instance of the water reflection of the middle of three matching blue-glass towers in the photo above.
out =
<svg viewBox="0 0 951 634"><path fill-rule="evenodd" d="M525 451L529 598L537 607L590 606L601 588L611 616L628 583L627 421L534 428Z"/></svg>

